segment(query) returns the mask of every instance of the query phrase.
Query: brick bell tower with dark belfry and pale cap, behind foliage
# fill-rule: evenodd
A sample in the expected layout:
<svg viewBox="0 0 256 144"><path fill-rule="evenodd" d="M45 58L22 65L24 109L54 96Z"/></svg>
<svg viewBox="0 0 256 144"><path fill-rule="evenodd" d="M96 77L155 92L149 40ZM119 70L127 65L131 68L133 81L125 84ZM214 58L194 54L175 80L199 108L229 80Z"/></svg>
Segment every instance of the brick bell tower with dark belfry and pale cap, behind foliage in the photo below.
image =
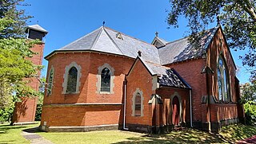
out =
<svg viewBox="0 0 256 144"><path fill-rule="evenodd" d="M42 56L43 56L43 49L45 43L43 41L44 37L48 33L46 29L43 29L40 25L29 25L26 28L27 39L30 40L40 40L41 43L34 45L31 50L34 53L38 53L33 57L28 58L34 64L41 65L42 64ZM40 72L38 72L38 76L40 76ZM30 78L30 83L28 84L34 90L39 90L39 81L37 78ZM11 124L18 125L18 124L29 124L34 123L35 112L37 108L38 98L27 98L23 97L22 102L15 103L14 114L12 118Z"/></svg>

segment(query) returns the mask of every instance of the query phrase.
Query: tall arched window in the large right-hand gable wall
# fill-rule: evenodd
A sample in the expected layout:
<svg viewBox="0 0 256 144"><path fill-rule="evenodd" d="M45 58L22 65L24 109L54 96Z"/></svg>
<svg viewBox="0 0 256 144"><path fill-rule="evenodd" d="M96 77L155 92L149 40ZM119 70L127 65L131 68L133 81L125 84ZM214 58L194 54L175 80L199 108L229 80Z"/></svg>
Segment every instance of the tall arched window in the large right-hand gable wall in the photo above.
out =
<svg viewBox="0 0 256 144"><path fill-rule="evenodd" d="M218 59L218 100L230 101L229 80L226 64L222 57Z"/></svg>

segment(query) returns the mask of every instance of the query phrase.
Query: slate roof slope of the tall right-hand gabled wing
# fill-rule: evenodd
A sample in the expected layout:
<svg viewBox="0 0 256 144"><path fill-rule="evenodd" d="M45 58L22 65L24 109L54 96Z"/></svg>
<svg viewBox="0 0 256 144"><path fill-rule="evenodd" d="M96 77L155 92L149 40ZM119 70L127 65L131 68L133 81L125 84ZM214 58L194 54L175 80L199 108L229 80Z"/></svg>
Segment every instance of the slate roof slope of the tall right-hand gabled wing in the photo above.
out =
<svg viewBox="0 0 256 144"><path fill-rule="evenodd" d="M206 30L200 38L199 47L196 44L190 44L188 37L185 37L177 41L169 42L166 46L159 48L158 53L161 64L171 64L202 56L202 53L205 53L218 28L219 27L215 27Z"/></svg>

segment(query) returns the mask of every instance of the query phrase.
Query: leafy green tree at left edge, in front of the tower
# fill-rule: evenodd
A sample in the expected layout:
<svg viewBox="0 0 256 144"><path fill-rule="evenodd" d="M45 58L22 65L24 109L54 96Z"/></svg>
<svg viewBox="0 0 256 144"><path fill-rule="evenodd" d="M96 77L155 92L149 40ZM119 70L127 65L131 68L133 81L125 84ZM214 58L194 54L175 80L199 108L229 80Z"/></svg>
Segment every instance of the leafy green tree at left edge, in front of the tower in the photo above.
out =
<svg viewBox="0 0 256 144"><path fill-rule="evenodd" d="M0 1L0 108L5 108L21 96L38 95L27 86L30 77L38 77L42 66L33 64L27 57L39 41L26 41L24 10L17 10L22 0ZM7 5L8 4L8 5ZM17 18L13 19L13 15ZM19 25L19 26L17 26ZM22 29L22 30L21 30Z"/></svg>

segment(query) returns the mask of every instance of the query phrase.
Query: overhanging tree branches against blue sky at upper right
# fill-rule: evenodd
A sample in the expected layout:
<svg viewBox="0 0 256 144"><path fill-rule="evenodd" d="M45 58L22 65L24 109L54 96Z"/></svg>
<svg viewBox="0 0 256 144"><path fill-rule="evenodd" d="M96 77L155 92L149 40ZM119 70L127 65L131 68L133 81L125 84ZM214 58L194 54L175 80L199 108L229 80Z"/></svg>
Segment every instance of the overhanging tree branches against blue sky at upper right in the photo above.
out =
<svg viewBox="0 0 256 144"><path fill-rule="evenodd" d="M167 23L178 27L178 17L189 20L191 36L217 19L231 49L247 50L242 64L256 77L256 1L254 0L170 0ZM191 38L192 40L194 38Z"/></svg>

